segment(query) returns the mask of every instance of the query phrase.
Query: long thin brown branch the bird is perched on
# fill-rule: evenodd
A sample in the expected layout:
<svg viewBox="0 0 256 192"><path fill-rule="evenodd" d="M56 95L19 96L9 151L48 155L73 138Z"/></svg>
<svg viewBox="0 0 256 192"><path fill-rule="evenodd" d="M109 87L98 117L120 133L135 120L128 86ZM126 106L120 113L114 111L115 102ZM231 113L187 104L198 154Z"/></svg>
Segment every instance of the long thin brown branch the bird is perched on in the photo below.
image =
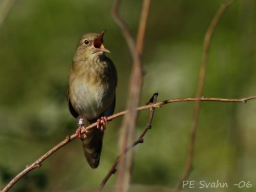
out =
<svg viewBox="0 0 256 192"><path fill-rule="evenodd" d="M254 100L256 99L256 96L252 96L252 97L247 97L247 98L241 98L241 99L225 99L225 98L175 98L172 100L165 100L165 101L161 101L159 103L155 103L155 104L150 104L150 105L143 105L141 107L137 107L136 111L142 111L142 110L148 110L151 107L153 108L159 108L162 107L162 105L165 104L171 104L171 103L177 103L177 102L184 102L184 101L216 101L216 102L235 102L235 103L247 103L248 100ZM124 114L127 114L127 110L126 111L121 111L120 113L114 114L113 116L109 116L107 117L108 121L111 121L113 119L116 119L117 117L123 116ZM85 129L89 130L92 129L94 127L97 126L97 123L92 123L90 126L86 127ZM81 133L84 133L85 130L82 130ZM2 188L2 192L4 191L8 191L18 180L20 180L21 177L23 177L25 174L27 174L28 172L30 172L31 170L35 169L35 168L40 168L41 167L41 163L46 160L47 158L49 158L50 155L52 155L53 153L55 153L57 150L59 150L60 148L62 148L62 146L66 145L67 143L71 142L71 140L76 138L76 133L71 135L71 136L67 136L65 140L63 140L62 142L60 142L59 144L57 144L55 147L53 147L52 149L50 149L50 151L44 153L43 156L41 156L39 159L37 159L33 164L31 165L27 165L27 167L21 171L18 175L16 175L4 188Z"/></svg>

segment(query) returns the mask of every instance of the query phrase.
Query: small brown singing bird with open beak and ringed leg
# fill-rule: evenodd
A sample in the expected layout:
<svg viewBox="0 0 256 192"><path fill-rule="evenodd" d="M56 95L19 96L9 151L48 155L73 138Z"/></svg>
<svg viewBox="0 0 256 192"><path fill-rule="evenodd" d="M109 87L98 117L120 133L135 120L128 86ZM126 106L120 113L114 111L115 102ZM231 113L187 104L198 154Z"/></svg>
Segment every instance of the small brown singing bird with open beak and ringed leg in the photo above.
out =
<svg viewBox="0 0 256 192"><path fill-rule="evenodd" d="M116 105L117 71L105 53L101 34L87 33L79 40L68 73L68 106L78 119L76 135L82 140L88 164L97 168L107 117L114 113ZM81 134L84 127L97 121L97 127ZM102 123L101 123L102 121Z"/></svg>

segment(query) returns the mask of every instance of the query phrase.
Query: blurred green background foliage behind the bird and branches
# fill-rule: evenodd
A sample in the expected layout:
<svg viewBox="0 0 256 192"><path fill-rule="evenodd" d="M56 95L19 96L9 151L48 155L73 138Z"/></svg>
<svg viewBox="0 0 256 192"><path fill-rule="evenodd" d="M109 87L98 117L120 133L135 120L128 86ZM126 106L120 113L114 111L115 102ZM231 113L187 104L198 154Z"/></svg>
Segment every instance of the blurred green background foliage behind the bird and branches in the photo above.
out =
<svg viewBox="0 0 256 192"><path fill-rule="evenodd" d="M2 1L2 0L1 0ZM194 97L210 21L224 1L152 1L145 36L146 71L141 105ZM116 112L126 107L132 65L126 41L111 17L113 1L16 1L0 28L0 187L67 135L76 120L66 104L69 65L84 33L101 33L119 75ZM120 14L136 36L142 1L123 1ZM237 0L226 9L213 35L203 95L256 95L256 1ZM133 185L174 188L183 173L194 103L156 109L145 143L136 146ZM256 100L201 103L194 170L189 180L228 183L201 191L255 191ZM139 113L137 134L149 111ZM100 167L91 169L74 140L21 178L11 191L84 191L97 188L118 155L121 118L105 132ZM116 175L106 187L111 187ZM250 181L251 188L233 184ZM152 187L152 189L154 189ZM145 188L137 191L148 191Z"/></svg>

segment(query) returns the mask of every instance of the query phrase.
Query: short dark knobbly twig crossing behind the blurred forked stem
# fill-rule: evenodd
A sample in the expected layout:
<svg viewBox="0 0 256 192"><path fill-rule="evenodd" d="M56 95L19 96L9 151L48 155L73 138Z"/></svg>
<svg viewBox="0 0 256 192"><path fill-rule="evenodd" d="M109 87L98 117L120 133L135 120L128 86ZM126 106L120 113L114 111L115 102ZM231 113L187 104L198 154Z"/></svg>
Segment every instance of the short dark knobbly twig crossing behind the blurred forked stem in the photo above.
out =
<svg viewBox="0 0 256 192"><path fill-rule="evenodd" d="M158 97L158 93L153 94L151 100L149 100L149 103L156 103ZM152 124L152 120L153 120L153 114L155 113L155 107L151 107L150 108L151 113L149 116L149 121L148 124L146 125L145 129L143 130L143 132L140 134L139 138L133 142L132 146L130 146L129 148L126 148L126 150L124 151L124 153L122 153L121 155L119 155L116 159L116 161L114 162L113 166L111 167L110 171L108 171L108 174L105 176L104 180L101 182L100 187L99 187L99 191L101 191L104 187L104 185L107 183L108 179L111 177L111 175L113 175L114 173L116 173L116 167L119 164L120 159L130 150L132 149L134 146L136 146L139 143L143 143L143 137L145 136L146 132L148 132L149 129L151 129L151 124Z"/></svg>

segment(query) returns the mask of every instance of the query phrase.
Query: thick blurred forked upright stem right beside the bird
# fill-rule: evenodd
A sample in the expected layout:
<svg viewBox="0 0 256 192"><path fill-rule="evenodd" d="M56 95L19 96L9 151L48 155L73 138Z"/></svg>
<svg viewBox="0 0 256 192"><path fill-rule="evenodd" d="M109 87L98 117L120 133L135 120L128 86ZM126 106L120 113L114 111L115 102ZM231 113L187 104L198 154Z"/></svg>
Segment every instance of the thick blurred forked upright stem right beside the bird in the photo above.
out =
<svg viewBox="0 0 256 192"><path fill-rule="evenodd" d="M123 154L127 146L135 140L137 111L136 107L139 106L140 95L142 91L142 63L141 53L143 48L143 39L145 36L146 19L150 7L150 0L144 0L142 6L142 17L139 24L139 37L137 44L133 41L129 27L119 15L119 7L121 0L114 1L113 17L116 23L123 31L124 37L132 54L133 68L130 76L129 98L127 101L127 116L124 117L121 132L120 132L120 153ZM127 191L130 183L130 175L132 168L133 153L129 153L120 161L120 169L117 175L117 191Z"/></svg>

